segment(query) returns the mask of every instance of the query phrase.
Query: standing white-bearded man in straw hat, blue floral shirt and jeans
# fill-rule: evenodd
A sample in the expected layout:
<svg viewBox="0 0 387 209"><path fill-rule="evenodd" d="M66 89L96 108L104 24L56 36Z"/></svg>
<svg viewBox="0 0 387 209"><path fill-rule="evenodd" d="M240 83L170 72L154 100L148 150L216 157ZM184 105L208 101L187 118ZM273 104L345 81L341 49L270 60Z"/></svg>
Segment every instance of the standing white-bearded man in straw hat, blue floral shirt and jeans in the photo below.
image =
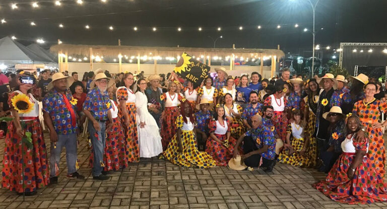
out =
<svg viewBox="0 0 387 209"><path fill-rule="evenodd" d="M106 127L106 121L111 122L110 126L113 124L109 111L112 105L106 89L113 84L114 79L106 77L104 73L98 73L90 83L91 90L83 103L83 112L89 119L88 130L93 145L92 175L93 179L102 181L110 178L103 174L103 153L106 142L105 130L110 129L110 127Z"/></svg>

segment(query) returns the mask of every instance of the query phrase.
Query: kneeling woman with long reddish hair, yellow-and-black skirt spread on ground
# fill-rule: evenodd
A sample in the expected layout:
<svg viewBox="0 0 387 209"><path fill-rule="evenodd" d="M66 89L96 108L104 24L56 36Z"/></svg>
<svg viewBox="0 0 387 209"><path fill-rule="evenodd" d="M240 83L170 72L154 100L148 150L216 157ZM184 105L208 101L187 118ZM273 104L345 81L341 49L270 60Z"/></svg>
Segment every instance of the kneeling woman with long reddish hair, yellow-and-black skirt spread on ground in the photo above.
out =
<svg viewBox="0 0 387 209"><path fill-rule="evenodd" d="M209 154L198 150L196 135L202 132L194 128L195 117L187 101L181 103L180 113L175 121L176 134L163 152L169 162L182 167L211 168L216 162Z"/></svg>

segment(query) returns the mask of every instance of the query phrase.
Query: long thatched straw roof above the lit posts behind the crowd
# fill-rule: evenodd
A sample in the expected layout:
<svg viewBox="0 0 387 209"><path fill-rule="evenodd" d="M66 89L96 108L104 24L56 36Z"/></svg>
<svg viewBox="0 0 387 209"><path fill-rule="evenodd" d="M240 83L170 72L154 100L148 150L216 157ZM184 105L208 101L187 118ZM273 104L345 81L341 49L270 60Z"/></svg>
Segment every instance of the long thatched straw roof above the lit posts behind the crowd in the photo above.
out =
<svg viewBox="0 0 387 209"><path fill-rule="evenodd" d="M181 56L185 51L191 56L219 56L227 57L234 54L238 57L259 58L262 56L277 56L284 57L282 50L278 49L260 49L260 48L193 48L193 47L150 47L150 46L112 46L112 45L74 45L74 44L59 44L51 46L50 50L54 53L68 52L69 56L89 56L90 48L93 49L94 56L117 57L119 53L122 56L161 56L161 57L176 57Z"/></svg>

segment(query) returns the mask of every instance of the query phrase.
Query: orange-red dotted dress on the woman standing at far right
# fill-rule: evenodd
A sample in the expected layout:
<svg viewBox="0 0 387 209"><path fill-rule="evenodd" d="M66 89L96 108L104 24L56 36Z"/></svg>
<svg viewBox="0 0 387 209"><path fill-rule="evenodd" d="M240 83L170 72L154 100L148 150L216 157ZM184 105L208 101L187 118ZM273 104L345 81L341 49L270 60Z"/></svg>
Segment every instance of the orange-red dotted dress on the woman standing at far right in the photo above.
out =
<svg viewBox="0 0 387 209"><path fill-rule="evenodd" d="M360 100L355 102L352 112L359 115L360 121L368 133L368 158L373 163L376 171L384 178L385 148L383 134L380 128L372 128L372 123L377 122L382 112L387 112L387 103L376 99L367 103Z"/></svg>

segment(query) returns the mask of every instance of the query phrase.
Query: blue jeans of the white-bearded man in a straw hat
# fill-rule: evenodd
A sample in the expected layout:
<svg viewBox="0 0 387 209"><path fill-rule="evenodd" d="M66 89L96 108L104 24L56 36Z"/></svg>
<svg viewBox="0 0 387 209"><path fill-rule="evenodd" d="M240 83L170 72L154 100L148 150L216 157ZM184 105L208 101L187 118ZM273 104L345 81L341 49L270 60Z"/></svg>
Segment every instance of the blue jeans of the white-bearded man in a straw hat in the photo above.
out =
<svg viewBox="0 0 387 209"><path fill-rule="evenodd" d="M103 153L106 144L106 124L105 122L98 122L98 124L101 128L101 130L98 132L94 129L92 122L89 122L89 125L87 127L91 137L91 144L93 145L93 177L101 175L101 172L103 170L103 168L101 167L101 162L103 162Z"/></svg>

